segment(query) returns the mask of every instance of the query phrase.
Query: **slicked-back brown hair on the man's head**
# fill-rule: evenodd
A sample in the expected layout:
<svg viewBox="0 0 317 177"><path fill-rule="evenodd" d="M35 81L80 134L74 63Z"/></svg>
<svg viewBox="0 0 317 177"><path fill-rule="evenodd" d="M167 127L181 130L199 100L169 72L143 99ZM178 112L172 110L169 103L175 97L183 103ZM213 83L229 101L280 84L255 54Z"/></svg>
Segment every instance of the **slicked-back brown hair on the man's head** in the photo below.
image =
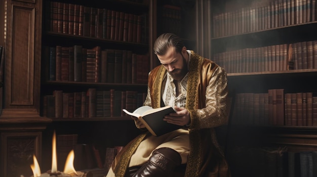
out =
<svg viewBox="0 0 317 177"><path fill-rule="evenodd" d="M175 51L180 53L184 43L176 34L164 33L155 40L153 50L155 54L164 55L171 46L175 47Z"/></svg>

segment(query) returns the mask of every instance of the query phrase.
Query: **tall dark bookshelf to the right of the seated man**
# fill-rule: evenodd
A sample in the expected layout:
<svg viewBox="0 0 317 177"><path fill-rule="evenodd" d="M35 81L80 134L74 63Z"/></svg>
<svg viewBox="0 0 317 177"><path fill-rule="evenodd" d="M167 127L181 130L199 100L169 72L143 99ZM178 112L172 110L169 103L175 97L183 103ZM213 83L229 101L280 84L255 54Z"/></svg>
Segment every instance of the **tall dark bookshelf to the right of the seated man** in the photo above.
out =
<svg viewBox="0 0 317 177"><path fill-rule="evenodd" d="M310 116L313 122L315 116L313 102L309 102L308 97L305 97L305 101L302 101L302 97L295 97L293 108L288 109L289 103L286 99L286 95L290 93L312 93L313 97L315 96L315 8L315 1L232 0L211 1L211 10L206 10L212 14L212 25L208 28L208 32L212 34L209 38L209 52L211 58L226 69L229 94L235 96L236 101L228 137L227 158L232 176L245 174L244 170L249 171L254 164L248 161L255 162L252 156L258 159L268 158L263 152L254 153L257 150L265 149L265 152L270 153L274 151L283 158L291 153L317 150L314 141L316 126L312 123L309 125L307 121ZM282 108L274 108L279 101L276 101L276 97L274 101L274 95L273 98L271 95L268 102L261 102L259 110L259 94L270 94L270 90L278 89L283 89ZM270 105L272 107L269 107ZM259 118L263 119L265 113L272 111L281 114L278 117L274 113L266 115L266 124L255 122ZM287 122L288 114L293 115L292 119L295 119L296 124L290 125ZM282 120L282 125L269 122L272 118ZM284 147L286 149L283 149ZM249 152L243 151L244 148ZM246 162L234 161L239 155L246 158ZM275 163L276 159L272 163L281 166ZM268 160L272 159L266 159L266 162ZM282 161L284 164L294 163L288 160L285 158ZM274 175L279 172L289 176L294 174L288 164L284 171L279 171L263 162L255 165L256 170L250 171L252 176L261 176L258 171L263 168L259 169L258 166L265 167L266 171L275 170ZM271 174L265 173L264 176Z"/></svg>

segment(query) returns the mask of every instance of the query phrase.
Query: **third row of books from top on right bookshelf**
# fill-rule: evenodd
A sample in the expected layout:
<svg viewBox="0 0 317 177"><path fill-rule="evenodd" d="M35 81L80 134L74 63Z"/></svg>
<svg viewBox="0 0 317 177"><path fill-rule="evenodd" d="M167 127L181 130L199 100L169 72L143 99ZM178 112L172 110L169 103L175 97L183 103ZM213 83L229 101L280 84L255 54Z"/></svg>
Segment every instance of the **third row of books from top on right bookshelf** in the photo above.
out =
<svg viewBox="0 0 317 177"><path fill-rule="evenodd" d="M260 126L317 126L317 96L312 92L239 93L235 96L232 124Z"/></svg>

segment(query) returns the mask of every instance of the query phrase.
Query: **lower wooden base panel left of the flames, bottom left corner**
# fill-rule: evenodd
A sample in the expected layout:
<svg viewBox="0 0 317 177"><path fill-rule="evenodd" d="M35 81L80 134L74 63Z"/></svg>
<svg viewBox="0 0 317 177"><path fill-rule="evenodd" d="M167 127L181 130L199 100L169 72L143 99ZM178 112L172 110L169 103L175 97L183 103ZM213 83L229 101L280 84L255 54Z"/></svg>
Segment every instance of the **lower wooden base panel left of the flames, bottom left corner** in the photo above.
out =
<svg viewBox="0 0 317 177"><path fill-rule="evenodd" d="M33 154L41 154L42 132L1 133L1 176L31 176ZM39 161L40 159L38 159Z"/></svg>

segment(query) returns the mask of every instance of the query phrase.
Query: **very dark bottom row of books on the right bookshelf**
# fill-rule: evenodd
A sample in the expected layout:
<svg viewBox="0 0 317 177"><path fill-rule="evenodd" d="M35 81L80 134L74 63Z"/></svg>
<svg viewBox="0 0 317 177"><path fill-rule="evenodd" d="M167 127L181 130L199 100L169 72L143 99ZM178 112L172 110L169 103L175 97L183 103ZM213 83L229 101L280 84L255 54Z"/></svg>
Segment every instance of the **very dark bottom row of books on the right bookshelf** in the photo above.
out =
<svg viewBox="0 0 317 177"><path fill-rule="evenodd" d="M287 147L240 147L228 157L232 174L254 177L317 175L317 151L289 151Z"/></svg>

